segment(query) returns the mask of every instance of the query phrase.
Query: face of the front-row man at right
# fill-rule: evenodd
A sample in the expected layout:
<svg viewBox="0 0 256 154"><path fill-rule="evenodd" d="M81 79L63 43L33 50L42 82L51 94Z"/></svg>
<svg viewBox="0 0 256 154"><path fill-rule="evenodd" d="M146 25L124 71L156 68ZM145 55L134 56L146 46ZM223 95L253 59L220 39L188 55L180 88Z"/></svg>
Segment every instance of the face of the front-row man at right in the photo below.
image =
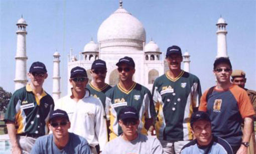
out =
<svg viewBox="0 0 256 154"><path fill-rule="evenodd" d="M198 120L194 122L192 132L199 145L208 145L212 140L210 121Z"/></svg>

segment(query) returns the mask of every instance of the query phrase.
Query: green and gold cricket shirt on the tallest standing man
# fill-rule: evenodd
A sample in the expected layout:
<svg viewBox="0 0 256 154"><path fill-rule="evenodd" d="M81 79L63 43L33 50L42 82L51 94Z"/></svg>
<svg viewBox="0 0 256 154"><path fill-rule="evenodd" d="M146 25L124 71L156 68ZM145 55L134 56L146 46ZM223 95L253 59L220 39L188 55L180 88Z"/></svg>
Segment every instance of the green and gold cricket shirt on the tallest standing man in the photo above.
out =
<svg viewBox="0 0 256 154"><path fill-rule="evenodd" d="M158 138L169 141L193 139L190 117L193 108L199 106L202 95L198 77L182 70L176 78L171 78L166 72L155 80L152 91L158 112Z"/></svg>

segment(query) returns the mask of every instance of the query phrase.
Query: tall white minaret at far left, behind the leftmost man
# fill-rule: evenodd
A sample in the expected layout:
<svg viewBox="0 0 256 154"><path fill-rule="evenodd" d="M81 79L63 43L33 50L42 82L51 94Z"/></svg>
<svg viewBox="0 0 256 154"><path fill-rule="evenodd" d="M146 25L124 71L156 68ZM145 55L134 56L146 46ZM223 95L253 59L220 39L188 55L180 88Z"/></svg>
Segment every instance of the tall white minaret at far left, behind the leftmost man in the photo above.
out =
<svg viewBox="0 0 256 154"><path fill-rule="evenodd" d="M17 26L17 51L16 51L16 66L15 66L15 90L24 87L27 80L27 53L26 53L26 23L23 16L18 20Z"/></svg>

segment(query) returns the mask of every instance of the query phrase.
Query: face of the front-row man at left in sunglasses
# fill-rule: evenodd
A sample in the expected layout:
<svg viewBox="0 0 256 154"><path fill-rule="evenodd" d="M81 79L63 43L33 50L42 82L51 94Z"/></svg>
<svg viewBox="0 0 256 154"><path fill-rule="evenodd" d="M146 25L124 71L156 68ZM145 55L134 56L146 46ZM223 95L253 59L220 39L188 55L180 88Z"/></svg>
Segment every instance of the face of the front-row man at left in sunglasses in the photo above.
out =
<svg viewBox="0 0 256 154"><path fill-rule="evenodd" d="M56 126L56 123L58 124ZM66 124L65 124L66 123ZM59 140L68 136L68 129L70 128L70 122L63 117L56 117L48 124L50 130L53 132L53 136Z"/></svg>

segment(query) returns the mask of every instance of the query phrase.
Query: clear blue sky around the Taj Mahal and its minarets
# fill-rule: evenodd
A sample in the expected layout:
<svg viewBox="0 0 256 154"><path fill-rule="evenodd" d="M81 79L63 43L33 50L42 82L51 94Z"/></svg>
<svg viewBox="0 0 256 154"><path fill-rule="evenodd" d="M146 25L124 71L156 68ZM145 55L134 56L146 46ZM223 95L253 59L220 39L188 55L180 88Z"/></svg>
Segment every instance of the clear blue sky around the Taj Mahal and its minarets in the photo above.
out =
<svg viewBox="0 0 256 154"><path fill-rule="evenodd" d="M97 41L100 24L118 8L119 0L0 0L0 86L14 91L17 21L27 26L27 70L43 61L49 77L44 88L52 93L53 53L61 54L61 91L67 93L67 56L82 51L91 37ZM233 69L246 72L246 87L256 89L255 0L123 0L123 7L144 25L165 54L179 45L191 55L190 71L200 78L202 90L215 84L212 73L217 54L216 22L227 25L227 52Z"/></svg>

